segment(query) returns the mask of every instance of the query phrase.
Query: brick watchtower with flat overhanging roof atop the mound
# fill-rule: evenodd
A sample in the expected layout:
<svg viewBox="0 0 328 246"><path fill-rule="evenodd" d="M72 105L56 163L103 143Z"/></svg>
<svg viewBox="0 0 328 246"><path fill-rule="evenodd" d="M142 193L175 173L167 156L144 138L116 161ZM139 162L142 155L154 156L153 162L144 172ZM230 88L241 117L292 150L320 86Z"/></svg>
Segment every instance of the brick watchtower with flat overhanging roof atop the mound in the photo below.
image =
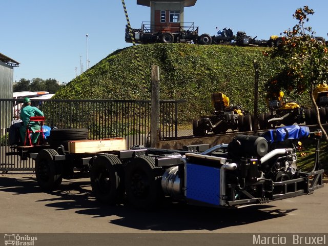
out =
<svg viewBox="0 0 328 246"><path fill-rule="evenodd" d="M191 7L197 0L137 0L137 5L150 7L150 26L152 32L174 32L183 24L183 10Z"/></svg>

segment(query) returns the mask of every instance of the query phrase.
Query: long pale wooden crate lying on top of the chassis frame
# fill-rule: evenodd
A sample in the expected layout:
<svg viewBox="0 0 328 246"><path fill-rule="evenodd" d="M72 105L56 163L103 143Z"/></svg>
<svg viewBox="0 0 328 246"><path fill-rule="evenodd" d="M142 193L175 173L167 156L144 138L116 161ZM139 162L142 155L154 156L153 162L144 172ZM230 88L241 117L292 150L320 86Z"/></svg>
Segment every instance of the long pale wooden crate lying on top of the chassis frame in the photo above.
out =
<svg viewBox="0 0 328 246"><path fill-rule="evenodd" d="M125 150L124 138L110 138L103 140L74 140L68 143L69 153L104 152L113 150Z"/></svg>

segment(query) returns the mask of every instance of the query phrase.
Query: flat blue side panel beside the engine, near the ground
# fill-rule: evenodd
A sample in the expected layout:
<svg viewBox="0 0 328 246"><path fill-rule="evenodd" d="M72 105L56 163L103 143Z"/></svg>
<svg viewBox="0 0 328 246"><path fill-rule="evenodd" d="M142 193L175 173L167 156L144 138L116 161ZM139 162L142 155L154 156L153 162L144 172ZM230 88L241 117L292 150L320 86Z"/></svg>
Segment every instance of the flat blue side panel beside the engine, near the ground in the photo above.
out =
<svg viewBox="0 0 328 246"><path fill-rule="evenodd" d="M187 198L220 205L220 169L187 163L186 188Z"/></svg>

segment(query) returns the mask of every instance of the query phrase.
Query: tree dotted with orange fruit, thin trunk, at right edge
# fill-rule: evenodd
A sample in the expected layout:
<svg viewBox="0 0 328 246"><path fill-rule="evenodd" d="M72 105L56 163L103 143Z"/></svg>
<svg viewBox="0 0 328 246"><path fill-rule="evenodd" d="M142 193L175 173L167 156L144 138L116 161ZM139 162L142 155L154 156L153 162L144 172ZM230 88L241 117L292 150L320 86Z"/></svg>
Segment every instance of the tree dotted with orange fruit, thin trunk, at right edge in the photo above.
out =
<svg viewBox="0 0 328 246"><path fill-rule="evenodd" d="M309 93L318 125L328 141L314 97L315 88L328 79L328 49L324 40L315 38L312 28L305 26L309 22L308 16L313 14L313 9L309 9L308 6L297 9L293 17L298 23L292 29L284 31L277 47L267 53L264 52L264 55L282 58L281 72L268 81L267 88L272 95L278 95L281 89L288 93Z"/></svg>

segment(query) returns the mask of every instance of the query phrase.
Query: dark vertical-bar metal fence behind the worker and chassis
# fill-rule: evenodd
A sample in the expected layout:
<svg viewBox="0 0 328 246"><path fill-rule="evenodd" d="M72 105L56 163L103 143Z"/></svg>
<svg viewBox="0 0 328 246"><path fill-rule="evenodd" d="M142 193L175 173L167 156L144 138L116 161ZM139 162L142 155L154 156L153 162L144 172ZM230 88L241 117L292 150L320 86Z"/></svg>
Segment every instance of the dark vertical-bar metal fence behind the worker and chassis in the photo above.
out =
<svg viewBox="0 0 328 246"><path fill-rule="evenodd" d="M151 103L149 100L58 100L32 99L46 117L45 125L57 128L87 128L89 139L124 137L127 148L149 146ZM178 105L182 100L159 101L159 140L177 138ZM0 99L0 170L32 171L34 161L9 155L8 130L19 118L23 99ZM7 153L7 154L6 154Z"/></svg>

